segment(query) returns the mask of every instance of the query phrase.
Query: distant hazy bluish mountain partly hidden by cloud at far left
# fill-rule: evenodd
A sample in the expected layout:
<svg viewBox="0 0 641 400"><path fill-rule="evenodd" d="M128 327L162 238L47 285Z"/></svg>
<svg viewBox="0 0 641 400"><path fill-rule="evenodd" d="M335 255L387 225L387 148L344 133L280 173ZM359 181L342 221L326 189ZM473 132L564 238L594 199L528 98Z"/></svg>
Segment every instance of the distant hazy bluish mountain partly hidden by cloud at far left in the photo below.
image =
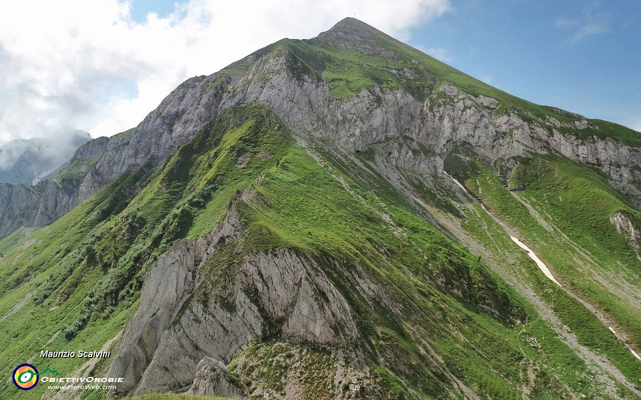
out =
<svg viewBox="0 0 641 400"><path fill-rule="evenodd" d="M84 131L57 138L12 140L0 146L0 182L35 185L54 176L88 140L91 137Z"/></svg>

